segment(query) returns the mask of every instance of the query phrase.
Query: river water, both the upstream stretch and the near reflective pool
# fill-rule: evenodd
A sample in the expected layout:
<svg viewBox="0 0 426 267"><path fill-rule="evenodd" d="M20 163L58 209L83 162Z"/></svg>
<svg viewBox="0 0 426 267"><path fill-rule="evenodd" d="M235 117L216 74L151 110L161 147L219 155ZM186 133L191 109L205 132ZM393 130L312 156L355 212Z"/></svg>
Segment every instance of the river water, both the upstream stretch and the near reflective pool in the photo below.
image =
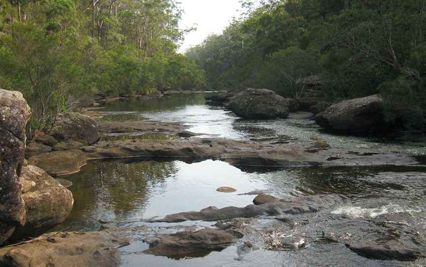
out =
<svg viewBox="0 0 426 267"><path fill-rule="evenodd" d="M409 138L410 141L407 141L404 136L390 140L384 137L327 134L321 132L309 118L310 113L306 112L290 114L290 118L285 120L242 120L221 108L206 105L203 94L115 101L108 103L102 111L106 116L115 116L121 120L129 117L179 122L186 125L188 131L202 136L256 141L272 139L304 147L320 138L331 147L347 152L356 150L359 153L365 149L377 153L396 151L420 158L426 155L423 136ZM256 224L269 235L265 238L257 235L245 236L242 241L250 241L259 249L244 255L242 260L235 260L239 255L238 244L208 255L171 259L145 255L142 251L147 248L146 244L136 242L122 249L122 265L420 267L426 264L425 260L414 263L371 260L350 251L342 242L322 242L318 240L318 236L321 233L332 233L347 236L342 238L347 238L348 242L389 238L387 235L383 236L383 225L374 220L395 212L407 212L411 216L410 222L404 221L403 226L396 226L398 231L411 233L414 229L414 232L423 236L426 227L425 171L426 167L421 166L274 168L235 167L213 160L96 160L83 167L81 172L66 177L73 182L69 189L75 202L71 215L58 229L98 230L99 219L117 222L117 226L139 226L143 224L140 220L157 215L200 210L207 206L244 207L255 196L239 194L253 190L264 190L279 198L336 195L343 196L345 203L314 214L295 217L296 221L309 221L306 226L288 228L273 218L257 219ZM237 192L216 192L216 188L220 186L233 187ZM206 222L186 224L212 225ZM153 226L160 227L164 224ZM303 239L309 245L294 250L267 249L268 242L274 238L271 237L272 232L279 233L280 238ZM410 238L405 235L401 235L403 243L409 243Z"/></svg>

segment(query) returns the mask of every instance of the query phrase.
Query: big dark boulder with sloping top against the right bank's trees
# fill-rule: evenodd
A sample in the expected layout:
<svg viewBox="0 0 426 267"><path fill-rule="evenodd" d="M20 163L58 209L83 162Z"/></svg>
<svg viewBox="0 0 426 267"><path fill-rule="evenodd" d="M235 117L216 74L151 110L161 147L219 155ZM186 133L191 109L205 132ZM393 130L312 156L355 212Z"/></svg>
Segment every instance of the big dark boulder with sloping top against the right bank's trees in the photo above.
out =
<svg viewBox="0 0 426 267"><path fill-rule="evenodd" d="M384 131L391 126L385 120L380 95L339 102L318 113L315 121L324 129L353 134Z"/></svg>

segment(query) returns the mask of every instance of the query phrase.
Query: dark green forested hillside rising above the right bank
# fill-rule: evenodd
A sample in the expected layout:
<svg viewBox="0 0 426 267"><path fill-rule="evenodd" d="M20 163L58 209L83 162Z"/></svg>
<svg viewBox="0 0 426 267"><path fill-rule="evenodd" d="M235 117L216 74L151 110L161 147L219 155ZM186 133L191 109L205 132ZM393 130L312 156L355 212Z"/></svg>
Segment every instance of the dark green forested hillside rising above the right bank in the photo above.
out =
<svg viewBox="0 0 426 267"><path fill-rule="evenodd" d="M215 88L297 98L316 74L331 100L380 92L392 108L425 109L426 1L268 0L186 55Z"/></svg>

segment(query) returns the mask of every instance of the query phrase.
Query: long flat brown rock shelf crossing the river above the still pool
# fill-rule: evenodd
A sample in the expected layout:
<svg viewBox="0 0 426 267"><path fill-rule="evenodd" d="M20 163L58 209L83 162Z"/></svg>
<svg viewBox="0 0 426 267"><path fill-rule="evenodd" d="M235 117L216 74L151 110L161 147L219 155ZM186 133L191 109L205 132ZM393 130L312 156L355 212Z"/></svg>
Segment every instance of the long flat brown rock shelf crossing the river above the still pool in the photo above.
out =
<svg viewBox="0 0 426 267"><path fill-rule="evenodd" d="M330 148L310 153L302 150L303 148L274 141L250 142L226 138L101 141L81 149L87 154L88 159L136 156L183 157L218 159L236 166L371 166L418 163L415 158L408 155L377 153L377 150L371 151L372 154L348 154L341 149Z"/></svg>

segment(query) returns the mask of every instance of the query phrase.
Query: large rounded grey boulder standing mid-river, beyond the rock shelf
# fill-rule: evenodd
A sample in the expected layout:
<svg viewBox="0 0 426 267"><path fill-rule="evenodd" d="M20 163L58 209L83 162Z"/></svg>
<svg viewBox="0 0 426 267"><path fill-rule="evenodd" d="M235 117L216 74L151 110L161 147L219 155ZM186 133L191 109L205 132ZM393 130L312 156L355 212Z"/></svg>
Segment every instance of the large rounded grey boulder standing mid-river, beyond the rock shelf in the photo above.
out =
<svg viewBox="0 0 426 267"><path fill-rule="evenodd" d="M246 89L225 106L244 119L287 118L289 100L267 89Z"/></svg>

